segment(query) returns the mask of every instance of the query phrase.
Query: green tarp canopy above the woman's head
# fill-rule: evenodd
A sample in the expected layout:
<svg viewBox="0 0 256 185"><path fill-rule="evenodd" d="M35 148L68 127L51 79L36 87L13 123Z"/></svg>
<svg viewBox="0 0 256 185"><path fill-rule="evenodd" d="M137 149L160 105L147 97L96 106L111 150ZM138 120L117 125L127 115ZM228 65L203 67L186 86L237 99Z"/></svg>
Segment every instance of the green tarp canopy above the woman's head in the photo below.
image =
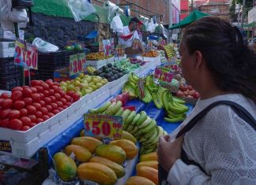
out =
<svg viewBox="0 0 256 185"><path fill-rule="evenodd" d="M178 24L175 24L172 27L170 26L169 29L184 28L186 25L194 22L194 20L198 20L201 17L205 17L205 16L210 16L210 15L207 14L207 13L202 13L202 12L200 12L198 10L194 10L192 13L190 13L190 15L185 17L185 19L180 21Z"/></svg>

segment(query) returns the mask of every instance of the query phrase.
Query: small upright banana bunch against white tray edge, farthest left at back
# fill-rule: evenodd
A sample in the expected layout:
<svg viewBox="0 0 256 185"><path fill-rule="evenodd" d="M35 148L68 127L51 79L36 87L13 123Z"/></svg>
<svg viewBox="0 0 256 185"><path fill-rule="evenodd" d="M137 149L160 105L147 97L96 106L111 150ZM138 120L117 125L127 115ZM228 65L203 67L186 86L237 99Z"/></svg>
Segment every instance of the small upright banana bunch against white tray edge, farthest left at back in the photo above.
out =
<svg viewBox="0 0 256 185"><path fill-rule="evenodd" d="M128 77L128 81L124 84L122 91L128 92L130 94L130 98L137 98L136 88L139 77L134 74L134 72L130 73Z"/></svg>

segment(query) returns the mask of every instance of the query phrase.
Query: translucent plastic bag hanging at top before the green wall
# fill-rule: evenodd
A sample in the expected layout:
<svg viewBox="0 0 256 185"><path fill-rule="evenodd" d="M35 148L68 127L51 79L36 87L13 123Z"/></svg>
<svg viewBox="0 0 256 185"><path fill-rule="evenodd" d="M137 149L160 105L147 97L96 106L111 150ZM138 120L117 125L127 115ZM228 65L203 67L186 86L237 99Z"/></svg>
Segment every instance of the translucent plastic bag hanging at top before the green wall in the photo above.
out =
<svg viewBox="0 0 256 185"><path fill-rule="evenodd" d="M88 0L66 0L66 2L76 22L96 12L96 9Z"/></svg>

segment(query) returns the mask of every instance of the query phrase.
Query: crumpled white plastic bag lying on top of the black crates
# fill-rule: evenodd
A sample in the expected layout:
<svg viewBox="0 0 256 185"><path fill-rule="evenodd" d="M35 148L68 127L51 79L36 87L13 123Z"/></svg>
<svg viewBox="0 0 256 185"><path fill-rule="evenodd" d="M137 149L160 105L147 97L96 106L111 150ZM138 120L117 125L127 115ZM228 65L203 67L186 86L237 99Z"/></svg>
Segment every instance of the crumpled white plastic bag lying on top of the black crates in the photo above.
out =
<svg viewBox="0 0 256 185"><path fill-rule="evenodd" d="M38 48L38 51L41 53L50 53L58 50L58 46L55 46L51 43L47 43L43 39L36 38L33 40L33 45Z"/></svg>

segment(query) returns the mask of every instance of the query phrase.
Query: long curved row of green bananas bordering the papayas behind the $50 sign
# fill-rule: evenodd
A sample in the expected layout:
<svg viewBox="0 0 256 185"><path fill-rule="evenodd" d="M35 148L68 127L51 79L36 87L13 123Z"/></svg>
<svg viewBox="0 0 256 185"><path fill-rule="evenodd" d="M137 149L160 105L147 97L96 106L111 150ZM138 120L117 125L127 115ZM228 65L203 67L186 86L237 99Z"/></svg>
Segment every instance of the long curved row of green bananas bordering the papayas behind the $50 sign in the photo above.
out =
<svg viewBox="0 0 256 185"><path fill-rule="evenodd" d="M167 135L163 128L156 125L156 120L150 118L145 111L136 113L130 109L123 109L122 102L106 102L98 109L90 109L90 113L107 114L122 117L123 130L130 132L141 142L141 154L156 151L160 135Z"/></svg>

